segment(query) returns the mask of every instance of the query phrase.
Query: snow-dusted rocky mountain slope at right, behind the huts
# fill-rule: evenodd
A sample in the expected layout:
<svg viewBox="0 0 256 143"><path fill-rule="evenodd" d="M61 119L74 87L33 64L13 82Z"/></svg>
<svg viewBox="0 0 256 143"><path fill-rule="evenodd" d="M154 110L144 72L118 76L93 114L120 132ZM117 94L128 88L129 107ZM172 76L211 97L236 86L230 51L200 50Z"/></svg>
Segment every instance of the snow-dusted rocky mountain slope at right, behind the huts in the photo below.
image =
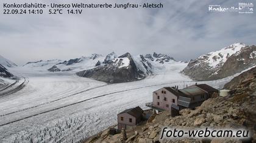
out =
<svg viewBox="0 0 256 143"><path fill-rule="evenodd" d="M256 46L236 43L191 60L183 70L193 79L215 80L240 73L256 65Z"/></svg>

